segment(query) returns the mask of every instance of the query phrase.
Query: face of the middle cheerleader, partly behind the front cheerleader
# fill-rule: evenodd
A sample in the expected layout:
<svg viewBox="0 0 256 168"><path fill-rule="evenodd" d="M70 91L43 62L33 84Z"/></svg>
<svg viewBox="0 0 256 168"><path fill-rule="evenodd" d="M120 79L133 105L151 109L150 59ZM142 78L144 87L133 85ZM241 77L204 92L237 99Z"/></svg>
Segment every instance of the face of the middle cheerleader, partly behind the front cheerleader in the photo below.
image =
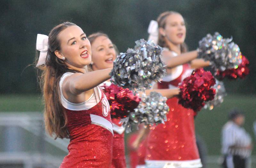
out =
<svg viewBox="0 0 256 168"><path fill-rule="evenodd" d="M92 69L106 69L113 67L116 51L110 39L105 36L97 37L92 43Z"/></svg>

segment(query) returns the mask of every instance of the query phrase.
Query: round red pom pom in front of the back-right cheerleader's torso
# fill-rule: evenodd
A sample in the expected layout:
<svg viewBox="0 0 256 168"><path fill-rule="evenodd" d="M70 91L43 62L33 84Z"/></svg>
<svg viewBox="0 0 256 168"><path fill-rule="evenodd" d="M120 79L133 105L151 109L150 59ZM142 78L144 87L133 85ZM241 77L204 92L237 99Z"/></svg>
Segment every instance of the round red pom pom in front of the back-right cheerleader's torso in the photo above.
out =
<svg viewBox="0 0 256 168"><path fill-rule="evenodd" d="M215 89L212 86L214 84L215 79L211 72L204 71L203 68L194 70L179 86L179 104L195 112L199 111L204 107L204 101L213 100Z"/></svg>

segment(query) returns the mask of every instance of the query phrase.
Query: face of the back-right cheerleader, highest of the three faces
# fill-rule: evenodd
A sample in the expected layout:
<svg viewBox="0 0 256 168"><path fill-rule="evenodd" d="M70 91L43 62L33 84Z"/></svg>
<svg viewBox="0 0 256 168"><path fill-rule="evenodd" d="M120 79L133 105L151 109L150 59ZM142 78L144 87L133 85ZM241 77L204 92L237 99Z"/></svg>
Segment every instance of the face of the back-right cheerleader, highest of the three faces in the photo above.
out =
<svg viewBox="0 0 256 168"><path fill-rule="evenodd" d="M186 26L183 17L178 13L167 16L165 27L161 29L160 33L174 45L184 43Z"/></svg>

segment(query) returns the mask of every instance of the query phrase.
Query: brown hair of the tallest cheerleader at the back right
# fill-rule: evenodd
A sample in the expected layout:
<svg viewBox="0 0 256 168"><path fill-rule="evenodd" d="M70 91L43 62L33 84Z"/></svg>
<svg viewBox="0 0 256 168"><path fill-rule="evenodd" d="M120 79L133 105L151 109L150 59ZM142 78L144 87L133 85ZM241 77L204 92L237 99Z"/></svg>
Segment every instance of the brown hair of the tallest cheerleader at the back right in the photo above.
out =
<svg viewBox="0 0 256 168"><path fill-rule="evenodd" d="M162 27L164 29L165 25L166 25L166 17L168 17L172 14L180 14L180 13L175 12L175 11L166 11L166 12L161 13L157 18L158 27L159 28ZM158 35L158 45L161 47L169 48L169 46L166 44L166 42L164 40L164 36L162 36L160 33L158 33L158 34L159 34ZM172 50L171 48L169 48L169 49ZM187 50L188 50L188 47L185 42L180 44L181 53L185 53L185 52L187 52Z"/></svg>

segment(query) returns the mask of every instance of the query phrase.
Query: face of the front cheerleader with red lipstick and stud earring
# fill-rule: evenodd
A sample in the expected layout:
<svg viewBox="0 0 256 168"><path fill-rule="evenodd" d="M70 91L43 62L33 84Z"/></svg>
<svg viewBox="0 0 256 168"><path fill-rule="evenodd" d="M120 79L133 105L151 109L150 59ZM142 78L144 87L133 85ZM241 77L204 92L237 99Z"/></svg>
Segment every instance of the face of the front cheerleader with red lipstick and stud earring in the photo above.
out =
<svg viewBox="0 0 256 168"><path fill-rule="evenodd" d="M91 63L91 44L84 31L79 26L69 26L58 35L60 51L55 51L57 57L65 57L64 63L70 67L84 68Z"/></svg>

